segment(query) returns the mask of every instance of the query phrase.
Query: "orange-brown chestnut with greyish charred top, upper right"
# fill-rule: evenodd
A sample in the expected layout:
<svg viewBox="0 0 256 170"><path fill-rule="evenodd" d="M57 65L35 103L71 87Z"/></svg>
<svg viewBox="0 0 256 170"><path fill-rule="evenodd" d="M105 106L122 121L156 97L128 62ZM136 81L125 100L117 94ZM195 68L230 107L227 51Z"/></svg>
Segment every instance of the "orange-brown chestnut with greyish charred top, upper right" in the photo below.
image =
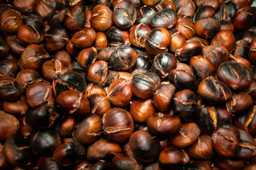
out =
<svg viewBox="0 0 256 170"><path fill-rule="evenodd" d="M211 40L220 30L220 21L215 18L201 18L193 27L196 35L206 40Z"/></svg>

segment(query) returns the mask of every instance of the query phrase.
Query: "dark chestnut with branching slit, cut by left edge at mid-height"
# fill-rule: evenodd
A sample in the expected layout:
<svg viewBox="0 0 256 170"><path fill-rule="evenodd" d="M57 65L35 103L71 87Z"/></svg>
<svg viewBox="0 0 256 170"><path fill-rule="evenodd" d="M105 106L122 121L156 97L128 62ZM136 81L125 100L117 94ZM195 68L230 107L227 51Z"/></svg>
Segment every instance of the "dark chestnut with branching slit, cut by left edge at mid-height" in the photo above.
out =
<svg viewBox="0 0 256 170"><path fill-rule="evenodd" d="M0 77L0 100L15 101L21 97L23 87L13 77Z"/></svg>

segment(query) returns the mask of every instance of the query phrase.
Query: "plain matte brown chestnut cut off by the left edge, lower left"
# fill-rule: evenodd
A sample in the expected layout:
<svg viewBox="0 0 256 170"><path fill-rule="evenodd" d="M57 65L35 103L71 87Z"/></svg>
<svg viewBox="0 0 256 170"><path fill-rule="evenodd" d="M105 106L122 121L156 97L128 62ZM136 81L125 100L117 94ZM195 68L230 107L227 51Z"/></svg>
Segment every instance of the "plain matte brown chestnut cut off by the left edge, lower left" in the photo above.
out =
<svg viewBox="0 0 256 170"><path fill-rule="evenodd" d="M0 122L1 122L1 135L0 141L4 142L11 135L15 135L20 130L20 123L18 119L9 113L0 111Z"/></svg>

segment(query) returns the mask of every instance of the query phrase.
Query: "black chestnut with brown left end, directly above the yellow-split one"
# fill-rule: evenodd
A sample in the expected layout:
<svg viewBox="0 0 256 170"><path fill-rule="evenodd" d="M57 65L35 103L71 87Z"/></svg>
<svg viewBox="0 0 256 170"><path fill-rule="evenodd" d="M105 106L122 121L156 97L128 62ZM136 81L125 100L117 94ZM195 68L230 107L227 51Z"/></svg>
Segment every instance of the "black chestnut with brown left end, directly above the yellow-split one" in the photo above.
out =
<svg viewBox="0 0 256 170"><path fill-rule="evenodd" d="M207 77L198 85L198 95L201 96L203 103L218 105L230 100L232 91L215 77Z"/></svg>

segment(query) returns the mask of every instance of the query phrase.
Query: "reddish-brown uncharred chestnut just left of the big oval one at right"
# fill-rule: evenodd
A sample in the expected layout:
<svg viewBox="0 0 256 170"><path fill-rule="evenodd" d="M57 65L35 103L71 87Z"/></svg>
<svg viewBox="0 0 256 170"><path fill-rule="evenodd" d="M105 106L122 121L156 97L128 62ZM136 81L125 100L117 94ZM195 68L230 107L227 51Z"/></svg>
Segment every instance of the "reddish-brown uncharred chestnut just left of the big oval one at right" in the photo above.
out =
<svg viewBox="0 0 256 170"><path fill-rule="evenodd" d="M202 55L191 57L190 66L193 70L193 74L199 80L213 76L214 68L212 62Z"/></svg>

